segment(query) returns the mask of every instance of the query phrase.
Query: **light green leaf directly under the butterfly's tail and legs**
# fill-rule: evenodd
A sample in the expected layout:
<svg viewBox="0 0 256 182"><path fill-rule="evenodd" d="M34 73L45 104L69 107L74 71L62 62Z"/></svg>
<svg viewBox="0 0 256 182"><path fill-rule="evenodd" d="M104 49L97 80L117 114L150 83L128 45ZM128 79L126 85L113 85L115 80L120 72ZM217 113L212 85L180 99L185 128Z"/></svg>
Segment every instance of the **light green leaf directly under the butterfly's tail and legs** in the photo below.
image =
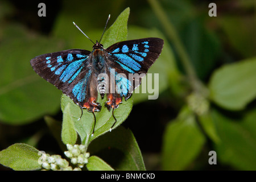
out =
<svg viewBox="0 0 256 182"><path fill-rule="evenodd" d="M98 97L100 99L100 96ZM110 127L112 127L114 123L114 118L112 116L112 111L109 111L106 107L104 107L107 98L105 97L103 100L100 100L101 108L100 112L96 112L96 126L93 137L93 125L94 125L94 117L92 113L83 110L81 117L81 109L79 106L74 104L74 102L67 96L63 94L61 97L61 109L64 111L66 105L70 105L69 112L71 113L72 121L75 125L75 129L77 133L79 133L82 144L88 146L88 144L98 136L108 132ZM117 119L117 123L115 123L113 129L115 129L118 125L120 125L130 114L130 111L133 107L133 97L129 98L127 101L123 101L122 104L119 105L117 109L114 110L115 118ZM81 117L80 120L78 120Z"/></svg>

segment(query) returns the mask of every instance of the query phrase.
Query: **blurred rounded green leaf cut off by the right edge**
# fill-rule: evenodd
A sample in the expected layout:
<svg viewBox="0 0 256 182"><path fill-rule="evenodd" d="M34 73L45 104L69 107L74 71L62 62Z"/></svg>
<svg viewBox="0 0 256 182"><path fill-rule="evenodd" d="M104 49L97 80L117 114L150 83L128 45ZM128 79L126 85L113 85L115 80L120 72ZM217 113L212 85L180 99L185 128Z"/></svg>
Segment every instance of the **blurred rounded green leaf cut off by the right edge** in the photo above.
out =
<svg viewBox="0 0 256 182"><path fill-rule="evenodd" d="M210 78L210 98L229 110L241 110L256 97L256 58L224 65Z"/></svg>

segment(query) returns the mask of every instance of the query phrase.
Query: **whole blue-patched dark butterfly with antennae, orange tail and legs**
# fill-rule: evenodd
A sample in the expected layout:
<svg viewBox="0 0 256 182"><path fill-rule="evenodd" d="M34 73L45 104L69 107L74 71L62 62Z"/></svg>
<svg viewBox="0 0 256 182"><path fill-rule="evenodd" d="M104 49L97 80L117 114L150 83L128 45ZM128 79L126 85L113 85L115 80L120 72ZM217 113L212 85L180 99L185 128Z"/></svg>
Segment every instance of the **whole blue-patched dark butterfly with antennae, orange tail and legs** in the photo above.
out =
<svg viewBox="0 0 256 182"><path fill-rule="evenodd" d="M79 28L76 24L75 26ZM104 32L105 29L106 26ZM79 30L81 31L80 28ZM98 92L102 99L106 95L108 101L105 102L105 106L109 111L113 109L114 117L114 109L122 103L122 98L126 101L130 98L133 90L141 84L141 78L158 59L163 43L159 38L144 38L118 42L105 49L96 41L93 43L92 52L68 49L36 56L30 63L39 76L62 90L79 105L81 111L87 109L94 115L94 112L101 110L100 103L96 102ZM139 77L132 77L136 74ZM115 117L114 119L110 131L117 122ZM95 124L94 115L94 127Z"/></svg>

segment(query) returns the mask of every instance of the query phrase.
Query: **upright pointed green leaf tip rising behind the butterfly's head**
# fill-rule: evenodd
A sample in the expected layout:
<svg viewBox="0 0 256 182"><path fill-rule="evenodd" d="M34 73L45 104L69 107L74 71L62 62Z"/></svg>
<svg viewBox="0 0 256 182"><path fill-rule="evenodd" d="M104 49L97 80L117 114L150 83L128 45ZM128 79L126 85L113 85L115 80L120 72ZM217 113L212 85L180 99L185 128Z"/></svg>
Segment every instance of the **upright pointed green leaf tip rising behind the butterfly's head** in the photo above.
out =
<svg viewBox="0 0 256 182"><path fill-rule="evenodd" d="M130 14L130 8L127 7L117 17L112 26L105 32L101 43L104 47L109 47L114 43L127 40L127 21Z"/></svg>

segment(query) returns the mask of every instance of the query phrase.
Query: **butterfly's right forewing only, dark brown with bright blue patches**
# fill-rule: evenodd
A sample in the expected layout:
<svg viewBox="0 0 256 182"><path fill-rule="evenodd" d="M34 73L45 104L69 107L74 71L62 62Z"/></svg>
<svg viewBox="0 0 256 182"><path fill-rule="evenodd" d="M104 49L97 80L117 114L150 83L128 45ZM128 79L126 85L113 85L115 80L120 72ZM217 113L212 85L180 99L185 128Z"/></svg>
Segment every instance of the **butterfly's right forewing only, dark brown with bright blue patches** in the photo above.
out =
<svg viewBox="0 0 256 182"><path fill-rule="evenodd" d="M163 40L145 38L118 42L106 49L108 59L129 73L147 73L163 49ZM111 64L111 63L110 63Z"/></svg>

